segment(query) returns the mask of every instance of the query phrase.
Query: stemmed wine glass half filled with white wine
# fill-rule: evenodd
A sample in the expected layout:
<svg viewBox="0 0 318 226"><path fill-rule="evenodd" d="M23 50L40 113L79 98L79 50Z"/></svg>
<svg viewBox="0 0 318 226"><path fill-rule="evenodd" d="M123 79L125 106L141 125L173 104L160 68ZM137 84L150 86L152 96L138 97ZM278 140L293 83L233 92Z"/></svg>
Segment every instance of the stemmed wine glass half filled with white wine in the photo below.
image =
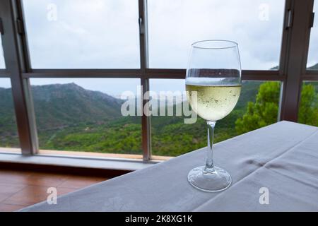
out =
<svg viewBox="0 0 318 226"><path fill-rule="evenodd" d="M242 88L240 54L236 42L205 40L192 44L187 68L186 90L192 110L207 122L206 165L192 169L188 181L201 191L228 189L230 174L213 162L216 121L226 117L237 104Z"/></svg>

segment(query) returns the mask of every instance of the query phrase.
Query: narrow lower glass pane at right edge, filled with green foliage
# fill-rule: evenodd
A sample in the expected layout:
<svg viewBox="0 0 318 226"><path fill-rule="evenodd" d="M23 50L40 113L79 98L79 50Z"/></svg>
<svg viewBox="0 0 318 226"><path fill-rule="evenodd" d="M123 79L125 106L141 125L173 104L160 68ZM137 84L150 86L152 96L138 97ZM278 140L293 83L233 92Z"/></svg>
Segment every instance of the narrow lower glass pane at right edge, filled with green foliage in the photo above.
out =
<svg viewBox="0 0 318 226"><path fill-rule="evenodd" d="M298 122L318 126L318 82L302 83Z"/></svg>

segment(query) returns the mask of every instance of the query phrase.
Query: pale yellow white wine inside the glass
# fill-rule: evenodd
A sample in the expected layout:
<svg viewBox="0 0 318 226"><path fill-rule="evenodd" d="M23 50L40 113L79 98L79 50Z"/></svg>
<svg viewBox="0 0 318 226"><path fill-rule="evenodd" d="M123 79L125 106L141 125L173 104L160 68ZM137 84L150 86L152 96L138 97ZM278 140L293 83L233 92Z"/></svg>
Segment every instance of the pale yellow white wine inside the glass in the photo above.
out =
<svg viewBox="0 0 318 226"><path fill-rule="evenodd" d="M241 88L242 85L186 85L192 110L207 121L217 121L230 114Z"/></svg>

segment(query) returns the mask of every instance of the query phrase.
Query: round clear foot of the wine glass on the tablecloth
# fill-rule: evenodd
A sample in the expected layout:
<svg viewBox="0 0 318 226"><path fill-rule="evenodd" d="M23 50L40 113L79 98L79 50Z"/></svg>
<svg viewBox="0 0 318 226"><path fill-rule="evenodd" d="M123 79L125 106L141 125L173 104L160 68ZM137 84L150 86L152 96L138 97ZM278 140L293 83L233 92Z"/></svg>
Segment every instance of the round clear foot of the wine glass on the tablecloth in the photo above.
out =
<svg viewBox="0 0 318 226"><path fill-rule="evenodd" d="M196 189L217 192L228 189L232 178L228 172L220 167L214 167L214 172L204 172L205 166L196 167L188 174L189 183Z"/></svg>

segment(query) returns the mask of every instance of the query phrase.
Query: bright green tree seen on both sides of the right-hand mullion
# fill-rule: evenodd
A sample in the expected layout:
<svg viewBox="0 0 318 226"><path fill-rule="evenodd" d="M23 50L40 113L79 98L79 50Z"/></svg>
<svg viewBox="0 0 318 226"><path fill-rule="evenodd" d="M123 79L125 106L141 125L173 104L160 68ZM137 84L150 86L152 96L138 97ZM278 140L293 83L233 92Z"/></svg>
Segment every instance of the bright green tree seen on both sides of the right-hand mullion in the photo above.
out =
<svg viewBox="0 0 318 226"><path fill-rule="evenodd" d="M280 83L266 82L260 85L256 102L249 102L247 112L235 121L237 133L247 133L277 121ZM302 85L298 121L318 126L318 94L314 85Z"/></svg>

